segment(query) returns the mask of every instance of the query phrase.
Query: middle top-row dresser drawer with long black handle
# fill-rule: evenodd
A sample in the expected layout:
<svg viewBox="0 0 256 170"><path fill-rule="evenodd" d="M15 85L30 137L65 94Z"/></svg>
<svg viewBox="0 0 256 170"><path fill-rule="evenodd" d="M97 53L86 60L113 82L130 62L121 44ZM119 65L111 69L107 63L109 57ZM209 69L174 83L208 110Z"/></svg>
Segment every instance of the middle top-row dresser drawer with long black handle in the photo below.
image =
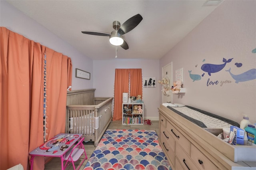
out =
<svg viewBox="0 0 256 170"><path fill-rule="evenodd" d="M190 155L190 142L185 136L177 130L170 122L167 121L166 129L170 134L172 134L173 138L182 146L182 148Z"/></svg>

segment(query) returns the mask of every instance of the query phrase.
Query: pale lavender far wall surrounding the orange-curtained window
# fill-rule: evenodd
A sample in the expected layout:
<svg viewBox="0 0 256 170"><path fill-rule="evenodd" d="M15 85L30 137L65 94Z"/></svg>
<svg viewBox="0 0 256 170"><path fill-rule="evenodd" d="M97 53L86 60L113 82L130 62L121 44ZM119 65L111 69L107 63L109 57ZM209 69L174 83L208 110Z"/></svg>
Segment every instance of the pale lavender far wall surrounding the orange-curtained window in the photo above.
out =
<svg viewBox="0 0 256 170"><path fill-rule="evenodd" d="M112 59L93 61L94 88L96 97L114 97L115 69L141 68L143 77L159 76L159 60L146 59ZM161 87L142 88L142 100L144 101L144 119L158 120L158 110Z"/></svg>

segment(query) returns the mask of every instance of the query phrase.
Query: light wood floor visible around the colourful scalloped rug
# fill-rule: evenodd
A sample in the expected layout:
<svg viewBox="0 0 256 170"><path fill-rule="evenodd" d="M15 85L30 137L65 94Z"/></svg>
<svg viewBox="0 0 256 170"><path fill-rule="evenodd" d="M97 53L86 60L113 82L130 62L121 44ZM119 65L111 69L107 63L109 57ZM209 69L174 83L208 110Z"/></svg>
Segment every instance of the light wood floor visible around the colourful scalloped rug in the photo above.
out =
<svg viewBox="0 0 256 170"><path fill-rule="evenodd" d="M159 135L159 121L151 121L151 125L122 125L122 121L112 121L108 126L108 129L140 129L140 130L155 130L156 133ZM90 158L91 154L93 153L94 147L93 142L86 142L84 143L84 148L86 150L86 154L88 159ZM83 160L84 157L81 157L80 160L76 162L76 167L78 164ZM84 166L86 165L85 160L79 170L83 170ZM54 157L48 163L45 164L45 170L61 170L60 158ZM65 170L73 170L72 164L70 164Z"/></svg>

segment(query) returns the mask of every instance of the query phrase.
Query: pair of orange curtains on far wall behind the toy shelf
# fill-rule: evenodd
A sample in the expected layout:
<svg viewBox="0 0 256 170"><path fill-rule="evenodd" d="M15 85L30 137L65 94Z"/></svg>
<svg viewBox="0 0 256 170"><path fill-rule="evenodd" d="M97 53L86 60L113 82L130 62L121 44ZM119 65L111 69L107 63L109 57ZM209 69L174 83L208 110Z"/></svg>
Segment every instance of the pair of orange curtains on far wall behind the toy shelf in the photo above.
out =
<svg viewBox="0 0 256 170"><path fill-rule="evenodd" d="M130 96L142 95L142 69L116 69L113 121L122 120L122 95L129 93L129 84Z"/></svg>

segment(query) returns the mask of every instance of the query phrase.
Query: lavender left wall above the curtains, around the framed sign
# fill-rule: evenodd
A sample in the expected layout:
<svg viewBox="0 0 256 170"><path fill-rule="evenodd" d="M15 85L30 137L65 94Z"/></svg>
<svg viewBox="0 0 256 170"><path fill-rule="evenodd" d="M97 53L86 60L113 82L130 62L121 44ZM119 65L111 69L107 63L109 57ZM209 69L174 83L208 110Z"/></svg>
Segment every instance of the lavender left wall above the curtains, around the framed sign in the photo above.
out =
<svg viewBox="0 0 256 170"><path fill-rule="evenodd" d="M91 89L93 81L75 77L75 69L92 73L92 59L84 56L70 44L32 20L4 0L0 0L0 26L67 55L72 60L72 90ZM93 74L91 74L91 77Z"/></svg>

